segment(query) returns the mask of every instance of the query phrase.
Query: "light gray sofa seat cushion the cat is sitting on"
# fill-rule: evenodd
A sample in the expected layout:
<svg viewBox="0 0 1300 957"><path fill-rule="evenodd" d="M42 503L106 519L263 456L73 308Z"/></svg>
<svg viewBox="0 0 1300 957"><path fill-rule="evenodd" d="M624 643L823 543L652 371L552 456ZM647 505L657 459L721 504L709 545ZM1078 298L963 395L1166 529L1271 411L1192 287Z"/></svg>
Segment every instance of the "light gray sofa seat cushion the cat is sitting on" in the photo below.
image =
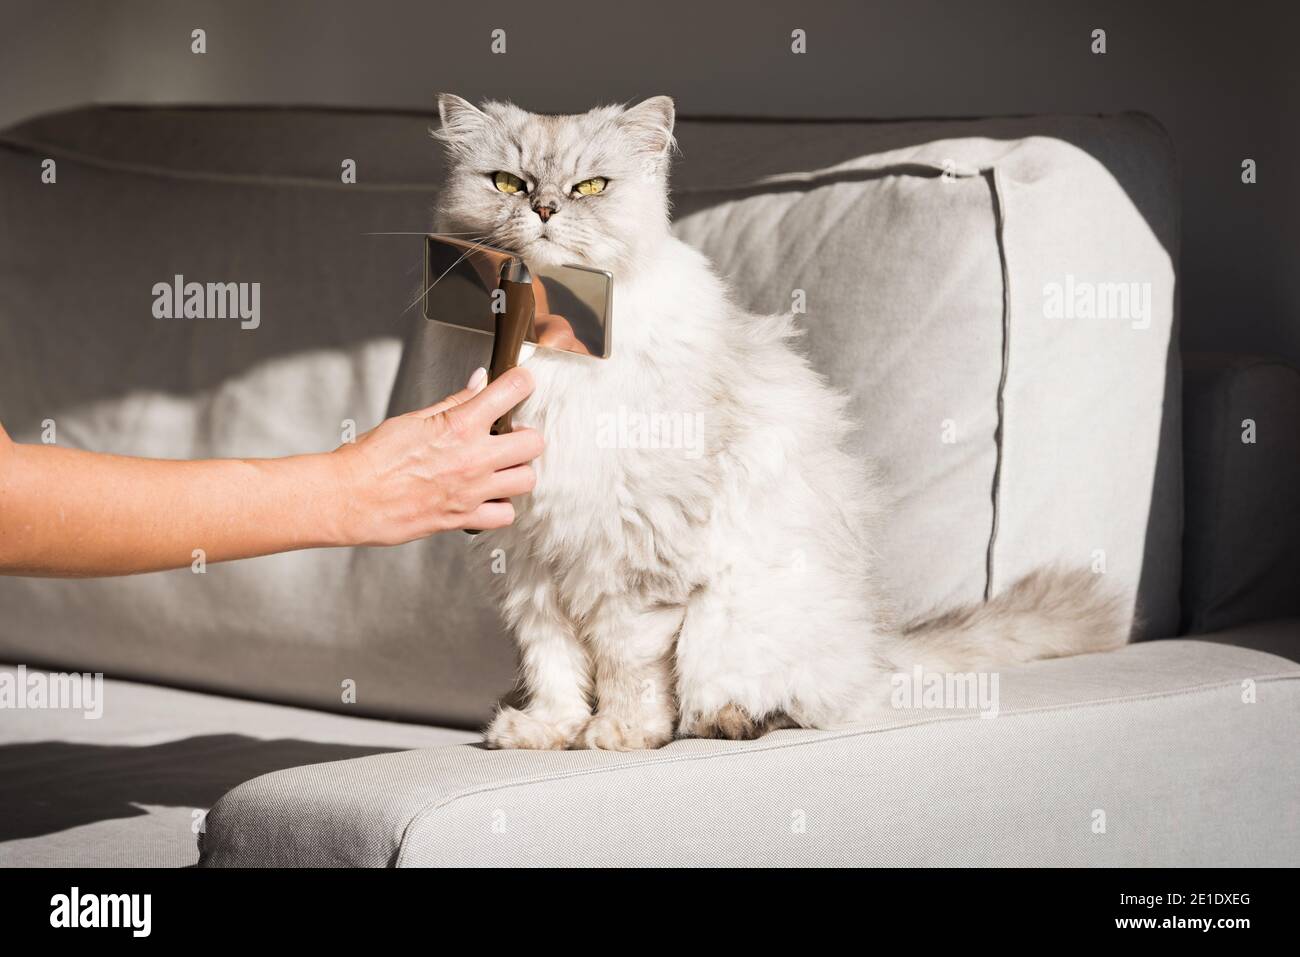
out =
<svg viewBox="0 0 1300 957"><path fill-rule="evenodd" d="M992 719L900 711L862 731L753 742L629 754L459 745L278 771L212 809L202 863L1300 859L1294 662L1153 641L1004 672L1000 697Z"/></svg>

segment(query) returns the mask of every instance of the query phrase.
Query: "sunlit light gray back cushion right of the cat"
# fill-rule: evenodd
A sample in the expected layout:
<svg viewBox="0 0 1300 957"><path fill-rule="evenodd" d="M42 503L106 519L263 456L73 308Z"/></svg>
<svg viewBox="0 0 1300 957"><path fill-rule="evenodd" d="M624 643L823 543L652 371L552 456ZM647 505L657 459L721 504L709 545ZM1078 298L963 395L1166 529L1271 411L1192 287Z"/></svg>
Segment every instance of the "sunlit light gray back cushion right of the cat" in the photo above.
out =
<svg viewBox="0 0 1300 957"><path fill-rule="evenodd" d="M1178 224L1164 131L1141 116L1039 117L720 124L681 139L702 159L676 181L677 231L757 311L806 293L809 350L853 398L859 451L896 498L880 553L902 611L1060 562L1132 588L1141 633L1171 635ZM1052 316L1053 283L1139 283L1149 315Z"/></svg>

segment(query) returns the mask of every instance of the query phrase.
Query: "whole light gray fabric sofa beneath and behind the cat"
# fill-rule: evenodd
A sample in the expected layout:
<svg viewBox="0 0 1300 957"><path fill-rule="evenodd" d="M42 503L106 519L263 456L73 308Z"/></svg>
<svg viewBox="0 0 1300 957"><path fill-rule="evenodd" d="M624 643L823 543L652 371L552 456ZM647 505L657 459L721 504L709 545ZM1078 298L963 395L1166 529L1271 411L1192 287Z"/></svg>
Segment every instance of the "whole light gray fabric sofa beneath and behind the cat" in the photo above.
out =
<svg viewBox="0 0 1300 957"><path fill-rule="evenodd" d="M430 121L117 107L0 133L0 421L286 455L458 387L486 343L412 308ZM800 313L849 397L900 612L1067 563L1131 596L1134 641L1004 670L996 716L493 752L515 662L467 536L5 579L0 687L104 677L99 718L0 707L0 865L1300 861L1300 373L1180 354L1160 125L688 117L677 138L679 237L749 308ZM260 283L260 321L156 317L176 276ZM614 317L616 351L616 293Z"/></svg>

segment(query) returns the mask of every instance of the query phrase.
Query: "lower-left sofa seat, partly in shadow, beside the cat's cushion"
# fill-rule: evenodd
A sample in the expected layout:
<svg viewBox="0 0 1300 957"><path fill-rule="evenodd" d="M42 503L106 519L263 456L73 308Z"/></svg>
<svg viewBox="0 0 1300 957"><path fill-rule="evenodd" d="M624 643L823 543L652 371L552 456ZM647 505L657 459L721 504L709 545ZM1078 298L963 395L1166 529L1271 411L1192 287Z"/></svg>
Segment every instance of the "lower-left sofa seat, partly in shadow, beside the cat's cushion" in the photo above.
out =
<svg viewBox="0 0 1300 957"><path fill-rule="evenodd" d="M476 739L109 679L98 719L0 710L0 867L185 867L202 815L240 781Z"/></svg>

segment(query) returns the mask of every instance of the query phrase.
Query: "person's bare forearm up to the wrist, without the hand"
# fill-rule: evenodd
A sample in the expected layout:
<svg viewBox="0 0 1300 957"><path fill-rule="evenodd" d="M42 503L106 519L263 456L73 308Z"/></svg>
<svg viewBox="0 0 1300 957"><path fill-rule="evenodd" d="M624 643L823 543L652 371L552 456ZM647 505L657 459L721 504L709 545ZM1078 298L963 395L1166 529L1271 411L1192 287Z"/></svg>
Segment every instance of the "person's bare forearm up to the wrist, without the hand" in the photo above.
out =
<svg viewBox="0 0 1300 957"><path fill-rule="evenodd" d="M6 441L6 439L4 439ZM170 462L0 449L0 572L130 575L342 545L330 455Z"/></svg>

